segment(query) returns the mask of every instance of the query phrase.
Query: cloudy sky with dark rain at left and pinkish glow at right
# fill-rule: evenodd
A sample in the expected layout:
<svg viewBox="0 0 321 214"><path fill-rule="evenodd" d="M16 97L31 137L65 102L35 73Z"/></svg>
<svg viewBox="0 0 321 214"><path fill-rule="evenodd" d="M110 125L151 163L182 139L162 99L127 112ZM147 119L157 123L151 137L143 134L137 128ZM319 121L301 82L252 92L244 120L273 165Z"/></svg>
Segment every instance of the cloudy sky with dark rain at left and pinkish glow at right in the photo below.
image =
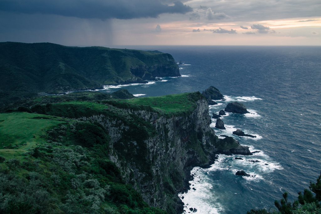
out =
<svg viewBox="0 0 321 214"><path fill-rule="evenodd" d="M0 0L0 42L321 45L320 0Z"/></svg>

